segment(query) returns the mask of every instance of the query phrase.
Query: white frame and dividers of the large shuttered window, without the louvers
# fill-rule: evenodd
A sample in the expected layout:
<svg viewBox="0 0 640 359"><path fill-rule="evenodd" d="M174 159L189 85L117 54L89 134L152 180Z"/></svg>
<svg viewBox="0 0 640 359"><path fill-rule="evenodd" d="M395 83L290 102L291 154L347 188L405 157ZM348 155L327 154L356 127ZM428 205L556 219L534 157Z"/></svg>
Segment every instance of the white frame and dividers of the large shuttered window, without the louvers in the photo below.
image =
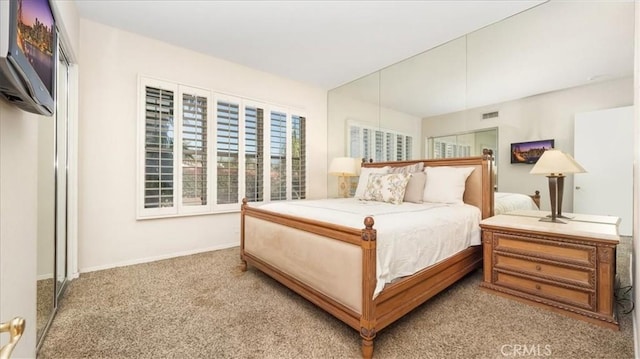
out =
<svg viewBox="0 0 640 359"><path fill-rule="evenodd" d="M146 146L146 89L147 87L159 88L173 92L173 205L171 207L145 208L145 146ZM205 97L207 101L207 202L204 205L185 205L183 198L183 95L194 95ZM229 102L238 105L238 198L234 203L218 203L218 102ZM306 129L308 117L303 111L292 109L289 107L270 104L265 101L246 99L240 96L234 96L224 93L218 93L211 90L178 84L166 80L160 80L153 77L139 75L138 78L138 151L137 151L137 180L136 180L136 198L137 198L137 219L151 219L163 217L176 217L188 215L206 215L216 213L235 212L240 210L242 199L246 196L247 187L247 159L246 159L246 114L247 108L262 109L263 113L263 140L262 146L258 149L263 156L263 171L260 181L262 182L262 200L256 203L270 202L271 199L271 113L280 112L285 114L285 181L286 181L286 198L282 200L292 199L293 190L293 156L292 156L292 133L293 133L293 117L304 118L304 141L305 148L308 148L309 137ZM302 135L301 135L302 136ZM260 152L261 151L261 152ZM309 163L307 152L304 153L304 193L305 198L308 193L307 179Z"/></svg>

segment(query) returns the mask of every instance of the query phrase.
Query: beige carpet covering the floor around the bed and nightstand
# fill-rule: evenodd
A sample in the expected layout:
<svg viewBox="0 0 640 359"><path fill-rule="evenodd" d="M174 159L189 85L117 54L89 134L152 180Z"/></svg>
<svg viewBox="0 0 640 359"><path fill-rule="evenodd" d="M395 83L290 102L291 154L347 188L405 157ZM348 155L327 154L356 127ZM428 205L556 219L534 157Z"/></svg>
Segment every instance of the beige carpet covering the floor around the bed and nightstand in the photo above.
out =
<svg viewBox="0 0 640 359"><path fill-rule="evenodd" d="M355 330L238 264L232 248L82 274L39 358L360 357ZM630 314L601 328L481 291L481 274L382 330L374 358L633 358Z"/></svg>

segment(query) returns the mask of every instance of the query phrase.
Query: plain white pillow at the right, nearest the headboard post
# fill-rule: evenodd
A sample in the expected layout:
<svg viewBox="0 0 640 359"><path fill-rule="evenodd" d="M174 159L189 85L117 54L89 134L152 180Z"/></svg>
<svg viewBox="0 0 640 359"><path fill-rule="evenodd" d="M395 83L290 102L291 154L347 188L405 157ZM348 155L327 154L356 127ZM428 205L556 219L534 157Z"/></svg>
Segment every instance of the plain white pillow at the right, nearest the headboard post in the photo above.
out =
<svg viewBox="0 0 640 359"><path fill-rule="evenodd" d="M467 177L473 167L425 167L424 202L462 204Z"/></svg>

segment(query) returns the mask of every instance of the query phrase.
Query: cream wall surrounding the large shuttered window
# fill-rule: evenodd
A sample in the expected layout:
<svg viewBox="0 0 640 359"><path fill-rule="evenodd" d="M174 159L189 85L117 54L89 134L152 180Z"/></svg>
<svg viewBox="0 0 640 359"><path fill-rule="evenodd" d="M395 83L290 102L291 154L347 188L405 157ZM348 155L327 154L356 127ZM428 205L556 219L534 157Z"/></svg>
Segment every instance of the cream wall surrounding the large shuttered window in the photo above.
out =
<svg viewBox="0 0 640 359"><path fill-rule="evenodd" d="M323 89L85 19L80 34L80 272L239 245L238 212L136 220L139 74L302 110L308 197L326 196Z"/></svg>

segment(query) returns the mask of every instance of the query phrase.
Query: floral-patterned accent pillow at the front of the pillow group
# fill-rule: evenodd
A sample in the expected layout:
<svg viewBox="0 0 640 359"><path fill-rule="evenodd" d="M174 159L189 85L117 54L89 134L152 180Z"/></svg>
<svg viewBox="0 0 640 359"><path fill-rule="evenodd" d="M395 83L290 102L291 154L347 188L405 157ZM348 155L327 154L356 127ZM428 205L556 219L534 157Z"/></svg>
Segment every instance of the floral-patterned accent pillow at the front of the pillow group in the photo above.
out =
<svg viewBox="0 0 640 359"><path fill-rule="evenodd" d="M410 178L410 173L372 173L369 175L369 182L367 182L363 199L366 201L401 204Z"/></svg>

